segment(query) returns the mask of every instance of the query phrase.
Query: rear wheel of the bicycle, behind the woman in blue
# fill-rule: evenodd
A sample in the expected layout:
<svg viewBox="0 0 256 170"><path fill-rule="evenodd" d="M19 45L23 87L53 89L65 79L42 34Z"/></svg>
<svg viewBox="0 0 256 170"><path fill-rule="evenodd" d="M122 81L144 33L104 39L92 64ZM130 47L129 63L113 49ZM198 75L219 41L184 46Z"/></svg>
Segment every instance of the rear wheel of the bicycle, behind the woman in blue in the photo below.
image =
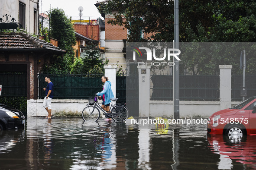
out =
<svg viewBox="0 0 256 170"><path fill-rule="evenodd" d="M113 120L123 122L128 118L128 109L123 105L113 106L111 116Z"/></svg>

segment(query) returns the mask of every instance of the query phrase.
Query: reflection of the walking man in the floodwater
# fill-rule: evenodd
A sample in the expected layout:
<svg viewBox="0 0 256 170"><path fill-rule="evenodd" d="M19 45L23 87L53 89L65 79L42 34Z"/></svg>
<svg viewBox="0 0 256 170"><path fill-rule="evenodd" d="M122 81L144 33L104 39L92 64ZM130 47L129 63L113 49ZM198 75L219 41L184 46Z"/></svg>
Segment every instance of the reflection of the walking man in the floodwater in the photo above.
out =
<svg viewBox="0 0 256 170"><path fill-rule="evenodd" d="M51 126L52 126L52 120L49 119L48 120L48 124L46 125L46 127L43 129L44 132L44 140L43 140L43 144L45 146L45 152L44 152L44 159L45 159L45 163L49 163L49 160L51 159L51 154L52 154L52 147L53 147L53 143L52 143L52 135L51 135Z"/></svg>

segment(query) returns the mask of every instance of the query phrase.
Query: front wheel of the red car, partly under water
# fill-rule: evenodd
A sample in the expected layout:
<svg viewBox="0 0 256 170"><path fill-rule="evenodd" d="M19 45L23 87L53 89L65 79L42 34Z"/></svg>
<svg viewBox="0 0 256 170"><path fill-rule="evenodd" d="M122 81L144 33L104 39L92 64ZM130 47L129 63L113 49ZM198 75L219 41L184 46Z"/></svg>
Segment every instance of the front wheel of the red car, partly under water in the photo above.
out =
<svg viewBox="0 0 256 170"><path fill-rule="evenodd" d="M228 135L230 138L243 138L246 135L246 131L240 125L235 124L227 127L225 135Z"/></svg>

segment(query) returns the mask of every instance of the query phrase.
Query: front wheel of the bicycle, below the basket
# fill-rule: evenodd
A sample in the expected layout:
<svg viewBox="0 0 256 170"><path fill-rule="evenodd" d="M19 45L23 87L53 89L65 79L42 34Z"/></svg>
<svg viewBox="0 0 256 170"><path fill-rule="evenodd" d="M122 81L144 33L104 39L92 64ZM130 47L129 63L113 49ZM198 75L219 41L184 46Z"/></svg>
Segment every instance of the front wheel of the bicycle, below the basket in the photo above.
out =
<svg viewBox="0 0 256 170"><path fill-rule="evenodd" d="M99 117L100 110L97 107L94 108L94 106L87 106L82 111L82 118L84 121L94 120L96 122Z"/></svg>

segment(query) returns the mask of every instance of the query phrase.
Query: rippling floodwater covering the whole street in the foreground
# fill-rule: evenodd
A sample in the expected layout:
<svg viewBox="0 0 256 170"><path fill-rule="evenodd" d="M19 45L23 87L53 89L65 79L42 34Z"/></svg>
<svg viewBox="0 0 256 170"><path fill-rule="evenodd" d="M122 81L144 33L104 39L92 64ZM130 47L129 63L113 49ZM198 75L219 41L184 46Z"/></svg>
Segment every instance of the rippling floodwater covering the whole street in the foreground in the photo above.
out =
<svg viewBox="0 0 256 170"><path fill-rule="evenodd" d="M82 118L27 118L25 130L0 134L0 169L256 168L256 136L207 136L206 126L127 125Z"/></svg>

